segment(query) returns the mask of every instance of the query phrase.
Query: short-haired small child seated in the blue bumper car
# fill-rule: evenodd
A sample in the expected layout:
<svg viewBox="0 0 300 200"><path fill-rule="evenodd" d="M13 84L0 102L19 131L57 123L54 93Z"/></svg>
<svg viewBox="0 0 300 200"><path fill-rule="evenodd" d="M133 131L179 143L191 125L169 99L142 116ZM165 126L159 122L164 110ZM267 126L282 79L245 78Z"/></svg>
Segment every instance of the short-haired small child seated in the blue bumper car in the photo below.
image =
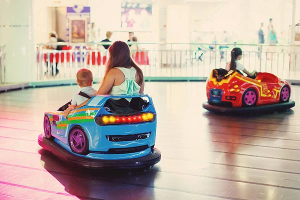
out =
<svg viewBox="0 0 300 200"><path fill-rule="evenodd" d="M86 96L84 94L87 94L88 96L93 96L97 92L97 90L92 88L93 77L91 71L87 68L82 68L77 71L76 82L81 89L78 94L73 95L69 107L75 107L76 105L83 103L87 99L86 97L84 97ZM80 95L82 93L84 94Z"/></svg>

